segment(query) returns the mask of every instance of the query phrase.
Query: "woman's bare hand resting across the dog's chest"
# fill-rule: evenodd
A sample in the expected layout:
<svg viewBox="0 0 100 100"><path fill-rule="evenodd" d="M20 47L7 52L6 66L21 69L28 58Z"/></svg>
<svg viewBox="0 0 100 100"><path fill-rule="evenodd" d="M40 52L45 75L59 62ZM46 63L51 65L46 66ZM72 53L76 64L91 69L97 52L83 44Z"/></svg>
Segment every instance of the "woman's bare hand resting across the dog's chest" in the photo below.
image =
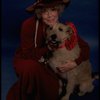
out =
<svg viewBox="0 0 100 100"><path fill-rule="evenodd" d="M63 73L63 72L70 71L71 69L75 68L76 66L77 66L77 64L76 64L75 61L68 60L66 64L57 67L57 69L58 69L60 72Z"/></svg>

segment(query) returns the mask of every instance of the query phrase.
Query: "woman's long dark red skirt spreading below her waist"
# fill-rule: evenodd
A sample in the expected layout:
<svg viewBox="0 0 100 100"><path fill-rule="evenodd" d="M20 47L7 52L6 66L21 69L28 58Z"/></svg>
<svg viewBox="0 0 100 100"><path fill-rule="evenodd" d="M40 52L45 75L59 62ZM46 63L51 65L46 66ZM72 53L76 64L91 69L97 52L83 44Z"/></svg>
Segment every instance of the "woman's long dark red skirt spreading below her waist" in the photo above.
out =
<svg viewBox="0 0 100 100"><path fill-rule="evenodd" d="M57 100L59 81L45 65L32 59L14 59L18 81L10 88L7 100Z"/></svg>

